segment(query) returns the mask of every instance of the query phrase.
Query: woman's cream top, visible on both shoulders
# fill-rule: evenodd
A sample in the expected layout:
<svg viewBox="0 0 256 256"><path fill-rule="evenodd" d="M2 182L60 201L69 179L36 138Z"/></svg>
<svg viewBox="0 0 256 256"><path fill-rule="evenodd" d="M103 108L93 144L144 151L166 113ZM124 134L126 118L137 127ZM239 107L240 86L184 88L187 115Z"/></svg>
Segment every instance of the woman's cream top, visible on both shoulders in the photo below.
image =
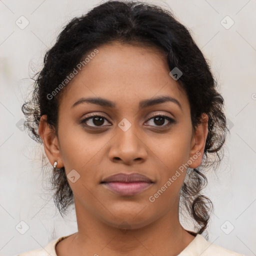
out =
<svg viewBox="0 0 256 256"><path fill-rule="evenodd" d="M69 235L61 236L49 242L44 248L27 251L17 256L57 256L55 246L57 242ZM196 234L195 238L177 256L245 256L234 251L210 243L202 235Z"/></svg>

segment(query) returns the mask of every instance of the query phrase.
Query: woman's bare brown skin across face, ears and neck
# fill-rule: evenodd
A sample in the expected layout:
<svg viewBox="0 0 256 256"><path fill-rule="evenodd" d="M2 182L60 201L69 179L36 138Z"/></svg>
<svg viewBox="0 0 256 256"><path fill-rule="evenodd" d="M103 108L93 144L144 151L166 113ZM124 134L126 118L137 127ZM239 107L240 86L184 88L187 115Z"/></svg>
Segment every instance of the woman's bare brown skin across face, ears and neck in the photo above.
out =
<svg viewBox="0 0 256 256"><path fill-rule="evenodd" d="M174 97L182 109L170 101L138 108L140 100L160 95ZM81 97L96 96L113 101L116 107L86 102L71 107ZM88 113L105 117L99 124L103 127L93 123L93 118L80 123ZM151 117L157 114L175 122L163 119L164 123L159 124ZM118 126L123 118L131 124L126 131ZM50 163L57 160L57 168L64 166L66 174L75 169L80 175L74 183L68 179L78 232L60 241L56 254L180 253L194 239L178 217L185 171L154 202L148 198L196 152L200 155L189 167L201 164L207 120L203 114L203 122L193 133L187 95L169 75L162 52L119 42L98 47L98 53L65 88L58 133L50 129L45 115L40 119L38 132ZM139 172L154 183L136 195L121 196L100 184L103 178L118 172ZM126 231L121 228L123 221L128 223Z"/></svg>

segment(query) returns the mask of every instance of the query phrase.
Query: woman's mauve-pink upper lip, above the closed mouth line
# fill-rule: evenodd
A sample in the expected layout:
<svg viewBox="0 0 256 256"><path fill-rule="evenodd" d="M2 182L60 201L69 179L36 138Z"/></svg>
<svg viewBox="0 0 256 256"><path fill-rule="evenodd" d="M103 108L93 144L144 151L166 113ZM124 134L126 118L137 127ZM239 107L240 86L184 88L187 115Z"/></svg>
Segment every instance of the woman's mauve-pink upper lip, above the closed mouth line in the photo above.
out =
<svg viewBox="0 0 256 256"><path fill-rule="evenodd" d="M117 173L110 175L103 179L101 183L105 182L153 182L151 179L140 173Z"/></svg>

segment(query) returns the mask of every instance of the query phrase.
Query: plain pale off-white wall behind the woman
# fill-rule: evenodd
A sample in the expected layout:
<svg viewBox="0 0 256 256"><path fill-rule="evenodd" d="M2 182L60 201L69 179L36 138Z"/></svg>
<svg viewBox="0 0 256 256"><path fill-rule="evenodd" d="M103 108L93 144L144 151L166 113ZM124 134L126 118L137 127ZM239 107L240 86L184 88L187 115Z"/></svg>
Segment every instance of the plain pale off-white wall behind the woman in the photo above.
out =
<svg viewBox="0 0 256 256"><path fill-rule="evenodd" d="M49 173L41 174L42 147L16 123L23 118L20 106L32 88L28 77L32 70L41 68L45 50L53 45L69 19L97 3L100 1L0 0L0 255L39 248L77 231L74 210L62 219L51 192L44 190ZM225 100L230 135L222 164L216 174L207 174L205 189L215 209L208 229L209 240L242 254L256 255L256 2L153 3L169 5L191 29L211 62ZM21 15L29 21L24 29L15 24ZM224 18L226 15L234 21L228 29L223 26L231 24L230 19ZM226 24L221 24L222 19L222 24ZM29 226L24 234L15 228L21 220ZM25 228L22 223L21 226ZM234 229L226 234L232 226Z"/></svg>

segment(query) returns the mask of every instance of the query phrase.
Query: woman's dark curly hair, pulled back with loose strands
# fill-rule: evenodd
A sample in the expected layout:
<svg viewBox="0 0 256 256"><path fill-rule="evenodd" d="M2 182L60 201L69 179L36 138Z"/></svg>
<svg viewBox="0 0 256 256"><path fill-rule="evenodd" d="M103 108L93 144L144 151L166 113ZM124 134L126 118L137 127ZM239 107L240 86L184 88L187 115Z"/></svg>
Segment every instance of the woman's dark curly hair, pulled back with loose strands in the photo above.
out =
<svg viewBox="0 0 256 256"><path fill-rule="evenodd" d="M223 113L224 99L217 92L217 82L208 61L188 29L170 10L140 1L111 0L72 18L58 34L55 44L46 51L42 69L32 78L32 96L21 107L25 115L24 126L31 138L42 143L38 125L40 117L46 114L49 126L57 135L58 107L66 86L50 99L47 95L65 80L87 53L114 41L155 47L164 52L169 69L177 67L182 72L177 82L188 96L193 130L201 123L201 114L208 115L202 162L193 171L187 171L189 178L185 178L180 189L180 202L192 217L196 233L201 234L213 209L211 200L201 193L207 184L205 172L219 164L228 130ZM53 169L50 181L55 191L54 203L62 216L73 204L64 167Z"/></svg>

